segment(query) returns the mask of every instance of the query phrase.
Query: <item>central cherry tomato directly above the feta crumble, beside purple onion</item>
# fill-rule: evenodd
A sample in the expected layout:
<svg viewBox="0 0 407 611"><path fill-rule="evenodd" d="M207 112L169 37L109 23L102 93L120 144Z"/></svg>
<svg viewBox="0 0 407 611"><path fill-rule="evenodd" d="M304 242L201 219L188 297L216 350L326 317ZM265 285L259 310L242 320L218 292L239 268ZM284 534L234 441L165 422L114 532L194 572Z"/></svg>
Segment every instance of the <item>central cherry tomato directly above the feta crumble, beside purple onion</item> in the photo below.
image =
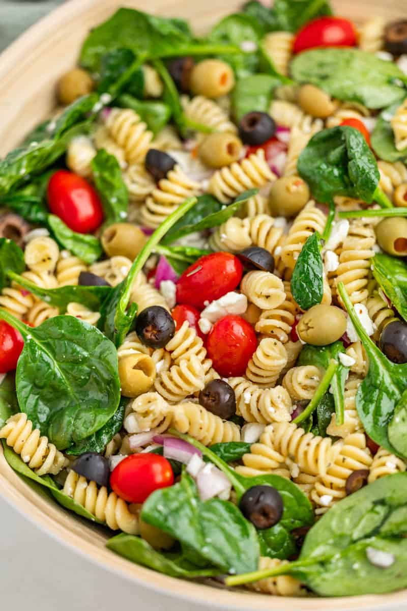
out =
<svg viewBox="0 0 407 611"><path fill-rule="evenodd" d="M176 300L203 310L205 301L214 301L234 290L242 279L243 265L230 252L212 252L199 258L179 277Z"/></svg>

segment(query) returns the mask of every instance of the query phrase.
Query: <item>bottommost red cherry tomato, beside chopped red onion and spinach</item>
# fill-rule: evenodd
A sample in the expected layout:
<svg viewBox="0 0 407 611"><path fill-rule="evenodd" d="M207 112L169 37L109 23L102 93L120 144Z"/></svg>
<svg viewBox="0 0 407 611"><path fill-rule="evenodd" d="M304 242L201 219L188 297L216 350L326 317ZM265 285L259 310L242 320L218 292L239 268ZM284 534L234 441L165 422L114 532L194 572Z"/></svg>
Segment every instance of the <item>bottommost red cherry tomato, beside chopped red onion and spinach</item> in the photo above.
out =
<svg viewBox="0 0 407 611"><path fill-rule="evenodd" d="M170 463L157 454L132 454L124 458L110 474L110 487L128 503L143 503L159 488L174 483Z"/></svg>

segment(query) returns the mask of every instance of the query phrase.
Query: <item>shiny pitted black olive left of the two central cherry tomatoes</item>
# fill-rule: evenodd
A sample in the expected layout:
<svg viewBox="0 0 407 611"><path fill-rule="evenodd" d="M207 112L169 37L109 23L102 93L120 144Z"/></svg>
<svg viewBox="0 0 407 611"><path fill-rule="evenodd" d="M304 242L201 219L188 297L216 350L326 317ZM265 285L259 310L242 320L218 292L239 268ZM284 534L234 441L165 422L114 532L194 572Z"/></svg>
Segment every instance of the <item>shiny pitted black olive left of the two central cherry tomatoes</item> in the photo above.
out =
<svg viewBox="0 0 407 611"><path fill-rule="evenodd" d="M164 348L171 337L174 337L175 322L164 307L151 305L137 316L135 332L145 346Z"/></svg>

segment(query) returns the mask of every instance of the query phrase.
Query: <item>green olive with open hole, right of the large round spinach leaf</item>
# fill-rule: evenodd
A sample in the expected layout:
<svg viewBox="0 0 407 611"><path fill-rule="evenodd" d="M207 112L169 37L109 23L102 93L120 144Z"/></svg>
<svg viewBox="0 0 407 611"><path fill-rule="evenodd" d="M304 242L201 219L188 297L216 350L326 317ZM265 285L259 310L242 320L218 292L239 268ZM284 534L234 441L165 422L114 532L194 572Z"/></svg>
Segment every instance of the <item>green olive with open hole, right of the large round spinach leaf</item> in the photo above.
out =
<svg viewBox="0 0 407 611"><path fill-rule="evenodd" d="M156 379L156 365L148 354L130 354L119 359L118 370L123 397L139 397L151 389Z"/></svg>

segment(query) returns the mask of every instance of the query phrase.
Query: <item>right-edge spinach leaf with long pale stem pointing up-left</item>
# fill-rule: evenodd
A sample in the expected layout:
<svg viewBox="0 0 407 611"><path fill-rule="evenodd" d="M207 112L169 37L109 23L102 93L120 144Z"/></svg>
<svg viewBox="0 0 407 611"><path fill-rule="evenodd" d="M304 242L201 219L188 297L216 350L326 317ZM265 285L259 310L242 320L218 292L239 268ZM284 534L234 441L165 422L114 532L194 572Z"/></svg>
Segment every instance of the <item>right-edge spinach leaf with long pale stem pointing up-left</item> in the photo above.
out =
<svg viewBox="0 0 407 611"><path fill-rule="evenodd" d="M399 447L399 442L402 431L404 440L407 439L406 420L402 413L403 409L406 411L407 405L404 402L403 408L403 403L400 403L407 389L407 364L397 365L387 359L367 335L342 282L338 284L338 291L369 359L369 371L356 395L359 418L364 430L376 444L382 445L392 454L406 458L405 441L403 447ZM397 428L399 434L397 439L393 439Z"/></svg>

